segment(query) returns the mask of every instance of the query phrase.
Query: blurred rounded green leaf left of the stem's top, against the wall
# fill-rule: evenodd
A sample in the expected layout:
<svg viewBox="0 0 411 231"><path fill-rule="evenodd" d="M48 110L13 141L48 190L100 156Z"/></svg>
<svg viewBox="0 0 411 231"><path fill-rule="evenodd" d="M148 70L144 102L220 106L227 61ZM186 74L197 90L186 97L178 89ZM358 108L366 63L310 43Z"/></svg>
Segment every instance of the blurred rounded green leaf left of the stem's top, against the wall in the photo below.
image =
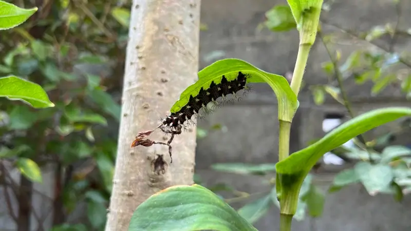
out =
<svg viewBox="0 0 411 231"><path fill-rule="evenodd" d="M266 12L266 26L271 31L288 31L296 27L291 9L287 5L277 5Z"/></svg>

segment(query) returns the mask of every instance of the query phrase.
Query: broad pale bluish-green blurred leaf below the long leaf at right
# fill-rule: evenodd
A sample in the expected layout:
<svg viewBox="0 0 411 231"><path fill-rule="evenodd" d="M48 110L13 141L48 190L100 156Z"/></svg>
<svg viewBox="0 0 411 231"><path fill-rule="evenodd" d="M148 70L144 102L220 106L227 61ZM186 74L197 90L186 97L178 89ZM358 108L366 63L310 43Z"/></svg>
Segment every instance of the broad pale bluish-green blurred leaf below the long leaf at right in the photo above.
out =
<svg viewBox="0 0 411 231"><path fill-rule="evenodd" d="M356 164L354 169L371 196L389 188L394 178L393 169L388 165L360 162Z"/></svg>

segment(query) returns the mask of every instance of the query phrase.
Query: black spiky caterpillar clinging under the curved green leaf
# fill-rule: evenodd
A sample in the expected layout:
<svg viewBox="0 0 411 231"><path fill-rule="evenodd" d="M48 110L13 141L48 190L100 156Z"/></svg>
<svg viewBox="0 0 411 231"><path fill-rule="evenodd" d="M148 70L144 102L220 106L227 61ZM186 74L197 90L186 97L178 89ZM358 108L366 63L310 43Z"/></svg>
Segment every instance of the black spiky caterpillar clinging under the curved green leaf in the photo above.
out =
<svg viewBox="0 0 411 231"><path fill-rule="evenodd" d="M186 129L186 124L194 124L191 120L193 115L197 118L203 118L202 113L210 113L225 102L232 103L234 100L241 100L238 91L243 90L244 95L246 95L252 90L251 86L247 84L248 78L251 78L251 75L239 71L234 80L227 81L226 76L222 75L221 83L215 84L213 81L210 87L205 90L201 87L198 95L196 97L191 95L189 102L179 111L161 119L160 129L165 133L180 134L181 128ZM229 94L231 94L231 98L228 98ZM219 98L221 100L217 101ZM209 103L212 104L211 109L208 107Z"/></svg>

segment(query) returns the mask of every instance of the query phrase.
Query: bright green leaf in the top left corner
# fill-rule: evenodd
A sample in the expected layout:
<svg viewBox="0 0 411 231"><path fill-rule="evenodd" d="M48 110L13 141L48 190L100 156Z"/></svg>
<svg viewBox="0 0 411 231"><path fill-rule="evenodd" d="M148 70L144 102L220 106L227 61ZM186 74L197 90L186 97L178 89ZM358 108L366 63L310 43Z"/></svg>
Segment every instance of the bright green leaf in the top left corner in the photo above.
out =
<svg viewBox="0 0 411 231"><path fill-rule="evenodd" d="M22 9L11 3L0 1L0 30L7 30L24 23L37 11L37 7Z"/></svg>

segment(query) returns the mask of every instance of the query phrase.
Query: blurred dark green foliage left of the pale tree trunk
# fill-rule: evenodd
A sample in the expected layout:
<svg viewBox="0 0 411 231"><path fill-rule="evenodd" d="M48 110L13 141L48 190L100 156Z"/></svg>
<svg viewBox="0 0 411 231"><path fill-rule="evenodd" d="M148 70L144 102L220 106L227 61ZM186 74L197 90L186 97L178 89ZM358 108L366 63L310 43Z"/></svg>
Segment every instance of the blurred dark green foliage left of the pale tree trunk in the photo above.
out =
<svg viewBox="0 0 411 231"><path fill-rule="evenodd" d="M112 95L121 93L131 1L11 3L39 10L2 31L0 75L39 84L55 106L0 99L0 165L42 182L42 166L52 163L58 179L44 182L56 189L48 198L52 230L103 230L117 149L107 128L118 127L120 118L120 99ZM88 222L68 224L81 201Z"/></svg>

